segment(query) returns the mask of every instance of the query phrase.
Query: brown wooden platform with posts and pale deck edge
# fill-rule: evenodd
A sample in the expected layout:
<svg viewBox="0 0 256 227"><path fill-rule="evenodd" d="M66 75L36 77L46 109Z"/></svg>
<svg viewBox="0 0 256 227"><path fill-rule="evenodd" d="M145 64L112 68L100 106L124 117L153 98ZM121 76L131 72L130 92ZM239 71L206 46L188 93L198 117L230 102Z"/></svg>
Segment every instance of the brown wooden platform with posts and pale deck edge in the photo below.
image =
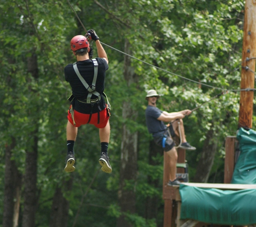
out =
<svg viewBox="0 0 256 227"><path fill-rule="evenodd" d="M225 169L224 169L224 183L184 183L184 185L195 186L199 188L217 188L221 190L243 190L243 189L256 189L256 185L238 185L230 184L232 180L232 175L234 171L234 166L236 165L237 159L239 157L239 150L237 150L238 141L236 136L228 136L225 141ZM178 162L185 164L185 150L178 148ZM197 222L182 223L177 218L179 216L181 205L181 197L179 195L179 186L170 187L167 186L169 182L169 167L170 159L168 155L164 152L164 171L163 171L163 200L164 200L164 224L163 227L202 227ZM183 168L177 168L177 173L184 173ZM256 227L256 226L255 226Z"/></svg>

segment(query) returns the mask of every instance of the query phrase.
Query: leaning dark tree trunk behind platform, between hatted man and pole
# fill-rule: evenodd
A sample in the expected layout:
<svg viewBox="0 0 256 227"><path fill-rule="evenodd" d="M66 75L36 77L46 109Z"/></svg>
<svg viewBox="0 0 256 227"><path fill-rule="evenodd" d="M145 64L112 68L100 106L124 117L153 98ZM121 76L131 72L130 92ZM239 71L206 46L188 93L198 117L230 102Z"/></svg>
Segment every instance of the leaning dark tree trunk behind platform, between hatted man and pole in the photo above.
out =
<svg viewBox="0 0 256 227"><path fill-rule="evenodd" d="M206 139L203 146L203 152L197 165L196 175L193 182L206 183L215 158L217 143L213 143L215 132L210 129L206 134Z"/></svg>

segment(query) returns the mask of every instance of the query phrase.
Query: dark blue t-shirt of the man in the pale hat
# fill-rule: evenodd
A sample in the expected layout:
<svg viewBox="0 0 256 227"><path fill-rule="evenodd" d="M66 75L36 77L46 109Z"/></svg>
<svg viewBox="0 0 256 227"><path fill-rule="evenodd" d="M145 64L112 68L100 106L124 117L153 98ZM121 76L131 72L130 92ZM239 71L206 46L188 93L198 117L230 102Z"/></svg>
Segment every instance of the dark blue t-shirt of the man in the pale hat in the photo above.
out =
<svg viewBox="0 0 256 227"><path fill-rule="evenodd" d="M162 112L162 110L152 105L148 105L146 109L146 124L149 133L151 133L153 137L161 136L167 128L162 120L157 120Z"/></svg>

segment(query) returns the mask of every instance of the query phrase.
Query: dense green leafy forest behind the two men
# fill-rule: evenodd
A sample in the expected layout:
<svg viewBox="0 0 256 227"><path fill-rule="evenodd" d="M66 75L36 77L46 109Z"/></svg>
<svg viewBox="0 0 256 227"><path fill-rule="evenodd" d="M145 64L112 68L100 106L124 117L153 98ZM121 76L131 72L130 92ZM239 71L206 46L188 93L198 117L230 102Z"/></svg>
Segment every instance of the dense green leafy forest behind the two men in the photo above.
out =
<svg viewBox="0 0 256 227"><path fill-rule="evenodd" d="M230 90L184 118L197 147L186 152L190 181L223 183L225 137L238 125L244 1L70 3L108 54L113 173L100 170L92 125L79 128L76 170L64 172L64 67L75 61L71 38L85 34L68 2L1 0L0 226L162 226L163 152L147 131L147 90L169 112Z"/></svg>

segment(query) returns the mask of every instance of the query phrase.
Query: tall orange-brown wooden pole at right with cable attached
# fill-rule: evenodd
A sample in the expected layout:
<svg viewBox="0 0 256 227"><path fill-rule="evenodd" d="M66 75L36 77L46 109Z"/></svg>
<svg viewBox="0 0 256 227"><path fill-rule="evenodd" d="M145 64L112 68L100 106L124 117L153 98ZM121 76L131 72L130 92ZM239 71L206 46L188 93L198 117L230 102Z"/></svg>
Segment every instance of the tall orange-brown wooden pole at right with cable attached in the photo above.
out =
<svg viewBox="0 0 256 227"><path fill-rule="evenodd" d="M241 69L240 109L238 127L252 128L254 72L256 58L256 1L245 1L244 39ZM250 90L252 89L252 90Z"/></svg>

